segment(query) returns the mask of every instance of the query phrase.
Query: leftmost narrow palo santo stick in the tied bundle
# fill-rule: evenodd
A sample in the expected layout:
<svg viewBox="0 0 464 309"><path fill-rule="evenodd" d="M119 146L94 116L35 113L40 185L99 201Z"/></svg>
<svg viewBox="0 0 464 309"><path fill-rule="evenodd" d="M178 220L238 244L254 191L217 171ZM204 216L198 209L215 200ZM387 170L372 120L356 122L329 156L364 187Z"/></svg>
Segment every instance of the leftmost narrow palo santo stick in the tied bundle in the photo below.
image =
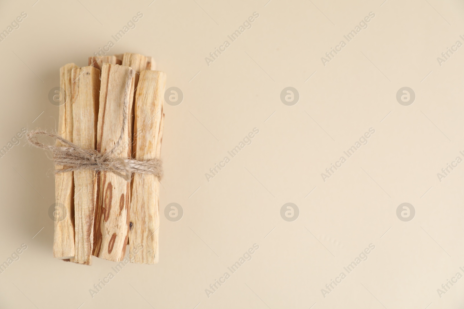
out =
<svg viewBox="0 0 464 309"><path fill-rule="evenodd" d="M72 95L71 70L77 68L74 63L68 63L59 69L60 87L65 94L60 95L58 135L72 141ZM57 141L56 145L61 145ZM56 170L65 167L56 165ZM74 212L72 171L55 174L55 202L58 215L55 218L55 232L53 235L53 256L59 259L74 257ZM55 207L55 208L56 208ZM66 212L65 217L62 212Z"/></svg>

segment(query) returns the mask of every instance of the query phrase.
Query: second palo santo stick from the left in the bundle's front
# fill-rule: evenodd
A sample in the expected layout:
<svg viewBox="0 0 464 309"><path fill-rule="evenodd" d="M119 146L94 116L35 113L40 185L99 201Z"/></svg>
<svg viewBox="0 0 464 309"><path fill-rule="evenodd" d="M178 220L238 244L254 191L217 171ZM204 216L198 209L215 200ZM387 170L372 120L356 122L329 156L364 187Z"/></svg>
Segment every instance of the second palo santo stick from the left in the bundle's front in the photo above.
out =
<svg viewBox="0 0 464 309"><path fill-rule="evenodd" d="M100 70L94 67L72 70L73 143L96 149ZM97 200L95 170L74 171L75 257L73 262L90 260L93 248L93 225Z"/></svg>

